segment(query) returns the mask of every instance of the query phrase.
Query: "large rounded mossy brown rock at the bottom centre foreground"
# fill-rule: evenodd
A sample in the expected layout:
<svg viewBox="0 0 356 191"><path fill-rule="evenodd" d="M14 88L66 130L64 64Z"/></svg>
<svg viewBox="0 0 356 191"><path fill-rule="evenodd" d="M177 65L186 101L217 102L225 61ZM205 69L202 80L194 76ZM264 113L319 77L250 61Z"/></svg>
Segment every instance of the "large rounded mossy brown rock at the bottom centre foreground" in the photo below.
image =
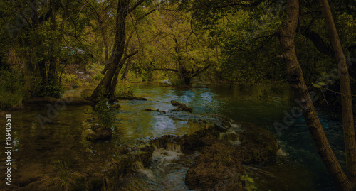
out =
<svg viewBox="0 0 356 191"><path fill-rule="evenodd" d="M187 171L185 183L191 190L244 190L245 175L236 151L217 141L204 151Z"/></svg>

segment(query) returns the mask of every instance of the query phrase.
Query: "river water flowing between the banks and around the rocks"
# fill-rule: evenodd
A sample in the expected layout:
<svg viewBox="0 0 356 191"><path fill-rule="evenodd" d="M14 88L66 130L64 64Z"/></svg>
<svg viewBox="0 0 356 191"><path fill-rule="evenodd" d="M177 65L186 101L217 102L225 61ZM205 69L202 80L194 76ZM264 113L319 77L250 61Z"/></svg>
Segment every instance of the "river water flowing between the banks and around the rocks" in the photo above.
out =
<svg viewBox="0 0 356 191"><path fill-rule="evenodd" d="M56 172L56 160L66 160L73 170L95 172L108 166L115 147L133 145L137 140L194 133L201 124L194 119L214 121L215 114L224 114L234 121L248 121L276 133L275 121L283 123L284 111L295 106L290 89L281 84L235 87L232 84L210 85L192 89L164 87L162 84L131 84L135 96L148 101L120 101L116 114L114 136L111 141L89 143L83 141L83 131L90 128L90 106L67 106L44 128L38 114L53 115L46 104L25 107L22 111L1 111L11 114L14 143L13 177L15 180ZM78 92L70 90L67 94ZM171 100L187 104L193 113L172 112ZM52 106L53 107L53 106ZM145 109L159 109L166 114ZM319 110L318 115L331 145L345 167L342 123L340 114ZM238 122L236 122L238 124ZM236 125L237 126L237 125ZM275 165L246 165L246 173L253 178L258 190L335 190L328 173L313 145L303 118L278 136L281 150ZM236 145L239 144L235 140ZM4 146L4 143L1 143ZM184 155L178 145L167 148L155 146L149 168L135 164L135 173L126 177L122 190L189 190L184 185L185 173L199 153ZM4 161L4 154L1 160ZM0 166L2 170L4 165Z"/></svg>

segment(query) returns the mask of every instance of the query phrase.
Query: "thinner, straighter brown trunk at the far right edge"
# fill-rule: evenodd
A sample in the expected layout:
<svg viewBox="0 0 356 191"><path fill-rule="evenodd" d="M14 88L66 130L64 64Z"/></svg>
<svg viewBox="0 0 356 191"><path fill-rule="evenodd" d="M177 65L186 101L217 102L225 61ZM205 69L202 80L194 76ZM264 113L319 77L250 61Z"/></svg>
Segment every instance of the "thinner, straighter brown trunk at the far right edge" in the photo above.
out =
<svg viewBox="0 0 356 191"><path fill-rule="evenodd" d="M323 12L326 28L330 38L330 43L333 45L335 59L340 74L340 92L342 105L342 124L344 126L344 141L347 165L347 178L352 184L356 182L356 139L355 126L352 114L352 97L350 87L350 77L347 70L347 62L342 51L340 38L337 33L333 14L328 3L328 0L319 0L321 10Z"/></svg>

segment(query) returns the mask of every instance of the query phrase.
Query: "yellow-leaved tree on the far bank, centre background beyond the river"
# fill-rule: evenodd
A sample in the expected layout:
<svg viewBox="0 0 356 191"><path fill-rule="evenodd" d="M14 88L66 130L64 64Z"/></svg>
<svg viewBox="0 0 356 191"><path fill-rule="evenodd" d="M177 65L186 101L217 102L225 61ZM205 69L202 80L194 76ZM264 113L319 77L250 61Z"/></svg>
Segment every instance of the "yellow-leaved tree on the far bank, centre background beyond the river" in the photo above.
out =
<svg viewBox="0 0 356 191"><path fill-rule="evenodd" d="M145 52L150 58L151 70L175 72L185 85L219 62L219 50L202 31L193 31L189 13L172 6L152 16L155 28Z"/></svg>

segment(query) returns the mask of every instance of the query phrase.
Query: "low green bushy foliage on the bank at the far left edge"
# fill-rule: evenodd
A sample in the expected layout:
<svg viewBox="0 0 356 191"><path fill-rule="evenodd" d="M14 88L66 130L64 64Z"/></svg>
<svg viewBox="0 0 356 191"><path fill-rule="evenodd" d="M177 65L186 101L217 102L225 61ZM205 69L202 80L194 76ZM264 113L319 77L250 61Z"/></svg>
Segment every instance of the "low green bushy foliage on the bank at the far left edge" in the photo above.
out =
<svg viewBox="0 0 356 191"><path fill-rule="evenodd" d="M0 72L0 109L21 108L27 96L21 72Z"/></svg>

